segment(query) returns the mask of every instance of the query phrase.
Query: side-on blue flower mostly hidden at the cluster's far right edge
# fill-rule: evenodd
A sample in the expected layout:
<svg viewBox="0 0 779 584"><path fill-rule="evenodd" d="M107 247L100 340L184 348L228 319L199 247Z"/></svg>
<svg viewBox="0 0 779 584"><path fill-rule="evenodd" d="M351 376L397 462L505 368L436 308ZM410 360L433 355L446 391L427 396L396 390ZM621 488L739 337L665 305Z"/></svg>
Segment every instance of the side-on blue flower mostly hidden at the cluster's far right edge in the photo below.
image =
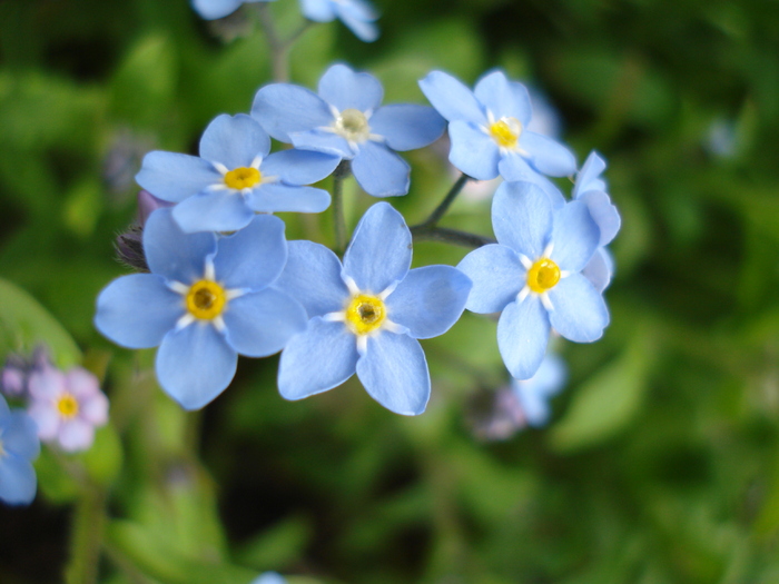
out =
<svg viewBox="0 0 779 584"><path fill-rule="evenodd" d="M605 170L605 160L596 152L590 152L573 185L573 199L586 204L590 216L601 231L598 249L582 270L599 291L603 291L611 281L614 263L605 246L614 239L621 225L620 214L605 192L607 184L601 178L603 170Z"/></svg>

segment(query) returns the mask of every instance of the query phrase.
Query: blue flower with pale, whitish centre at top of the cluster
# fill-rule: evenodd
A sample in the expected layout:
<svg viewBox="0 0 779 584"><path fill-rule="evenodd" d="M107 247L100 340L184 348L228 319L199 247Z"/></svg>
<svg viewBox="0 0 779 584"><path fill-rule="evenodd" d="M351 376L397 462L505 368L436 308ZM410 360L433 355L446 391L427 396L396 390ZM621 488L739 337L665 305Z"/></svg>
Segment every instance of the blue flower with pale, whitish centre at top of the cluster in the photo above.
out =
<svg viewBox="0 0 779 584"><path fill-rule="evenodd" d="M427 106L379 107L383 95L372 75L334 65L322 76L318 96L294 85L269 85L257 91L252 115L277 140L352 160L368 195L405 195L411 169L395 150L427 146L445 122Z"/></svg>

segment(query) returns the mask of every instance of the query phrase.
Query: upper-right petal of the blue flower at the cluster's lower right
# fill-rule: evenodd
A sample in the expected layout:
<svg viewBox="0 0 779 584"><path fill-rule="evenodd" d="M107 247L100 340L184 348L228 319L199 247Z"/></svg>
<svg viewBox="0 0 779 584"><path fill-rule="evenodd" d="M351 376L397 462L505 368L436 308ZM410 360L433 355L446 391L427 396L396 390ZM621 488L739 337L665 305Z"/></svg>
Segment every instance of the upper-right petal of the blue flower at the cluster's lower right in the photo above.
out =
<svg viewBox="0 0 779 584"><path fill-rule="evenodd" d="M554 212L551 258L560 269L581 271L595 253L600 237L586 204L572 200Z"/></svg>

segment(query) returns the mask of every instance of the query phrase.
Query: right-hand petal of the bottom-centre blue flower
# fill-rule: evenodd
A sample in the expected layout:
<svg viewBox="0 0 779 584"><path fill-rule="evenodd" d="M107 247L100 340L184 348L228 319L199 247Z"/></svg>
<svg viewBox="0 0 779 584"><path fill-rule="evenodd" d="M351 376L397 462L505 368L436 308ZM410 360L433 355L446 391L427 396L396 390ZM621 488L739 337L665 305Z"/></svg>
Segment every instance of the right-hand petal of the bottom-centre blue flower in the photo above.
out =
<svg viewBox="0 0 779 584"><path fill-rule="evenodd" d="M452 266L416 268L387 296L387 316L413 338L437 337L463 314L470 290L469 277Z"/></svg>

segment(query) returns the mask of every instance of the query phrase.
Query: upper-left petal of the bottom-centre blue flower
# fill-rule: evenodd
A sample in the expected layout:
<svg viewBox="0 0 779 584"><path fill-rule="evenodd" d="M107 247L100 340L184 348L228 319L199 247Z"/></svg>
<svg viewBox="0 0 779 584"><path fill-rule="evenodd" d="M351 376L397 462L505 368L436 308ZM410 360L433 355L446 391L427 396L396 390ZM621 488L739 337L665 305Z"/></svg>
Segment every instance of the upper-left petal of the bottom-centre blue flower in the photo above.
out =
<svg viewBox="0 0 779 584"><path fill-rule="evenodd" d="M296 300L309 317L344 309L349 291L341 278L341 260L323 245L313 241L289 241L287 265L274 283Z"/></svg>

